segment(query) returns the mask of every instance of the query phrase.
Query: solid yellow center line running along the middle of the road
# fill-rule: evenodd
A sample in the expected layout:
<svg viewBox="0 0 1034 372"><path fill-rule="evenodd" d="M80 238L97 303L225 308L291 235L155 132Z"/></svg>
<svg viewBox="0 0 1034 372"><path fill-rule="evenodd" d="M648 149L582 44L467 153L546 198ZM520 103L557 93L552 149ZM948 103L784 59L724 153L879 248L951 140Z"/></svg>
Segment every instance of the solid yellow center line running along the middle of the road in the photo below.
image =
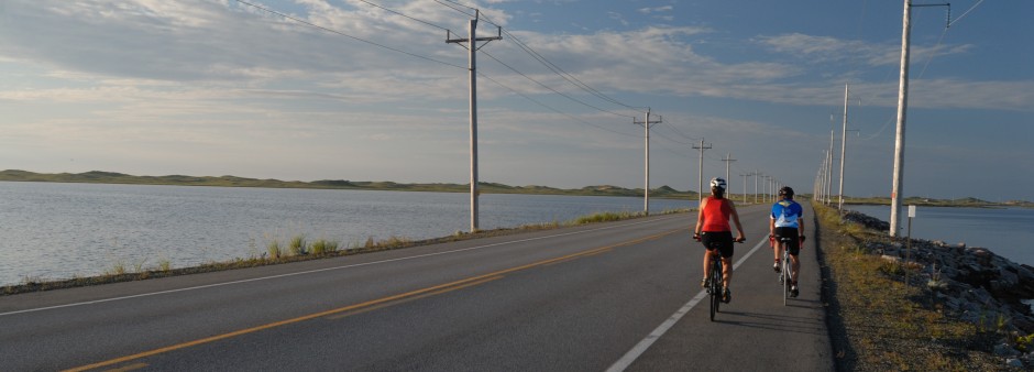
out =
<svg viewBox="0 0 1034 372"><path fill-rule="evenodd" d="M337 315L337 314L341 314L341 313L348 313L348 311L352 311L352 310L361 309L361 308L365 308L365 307L377 306L377 305L381 305L381 304L392 303L392 302L396 302L396 300L399 300L399 299L403 299L403 298L407 298L407 297L414 297L414 296L425 295L425 294L433 293L433 292L436 292L436 291L442 291L442 289L446 289L446 288L449 288L449 287L454 287L454 286L460 286L460 285L464 285L464 284L468 284L468 283L473 283L473 282L477 282L477 281L483 281L483 280L492 278L492 277L495 277L495 276L502 276L502 275L505 275L505 274L509 274L509 273L514 273L514 272L518 272L518 271L524 271L524 270L528 270L528 269L536 267L536 266L542 266L542 265L548 265L548 264L551 264L551 263L556 263L556 262L560 262L560 261L564 261L564 260L570 260L570 259L574 259L574 258L580 258L580 256L586 256L586 255L597 254L597 253L602 253L602 252L604 252L604 251L613 250L613 249L618 248L618 247L632 245L632 244L640 243L640 242L644 242L644 241L658 239L658 238L661 238L661 237L664 237L664 236L669 236L669 234L672 234L672 233L680 232L680 231L682 231L682 230L684 230L684 229L678 229L678 230L661 232L661 233L652 234L652 236L645 237L645 238L639 238L639 239L634 239L634 240L629 240L629 241L626 241L626 242L620 242L620 243L613 244L613 245L601 247L601 248L594 248L594 249L586 250L586 251L582 251L582 252L578 252L578 253L572 253L572 254L568 254L568 255L563 255L563 256L559 256L559 258L553 258L553 259L549 259L549 260L542 260L542 261L539 261L539 262L534 262L534 263L529 263L529 264L526 264L526 265L520 265L520 266L515 266L515 267L510 267L510 269L505 269L505 270L501 270L501 271L493 272L493 273L476 275L476 276L468 277L468 278L464 278L464 280L459 280L459 281L455 281L455 282L450 282L450 283L446 283L446 284L439 284L439 285L436 285L436 286L426 287L426 288L422 288L422 289L417 289L417 291L413 291L413 292L407 292L407 293L402 293L402 294L392 295L392 296L387 296L387 297L382 297L382 298L369 300L369 302L365 302L365 303L360 303L360 304L349 305L349 306L345 306L345 307L339 307L339 308L330 309L330 310L326 310L326 311L309 314L309 315L300 316L300 317L297 317L297 318L292 318L292 319L280 320L280 321L274 321L274 322L266 324L266 325L262 325L262 326L257 326L257 327L251 327L251 328L240 329L240 330L235 330L235 331L232 331L232 332L227 332L227 333L222 333L222 335L216 335L216 336L211 336L211 337L206 337L206 338L197 339L197 340L194 340L194 341L187 341L187 342L183 342L183 343L176 343L176 344L167 346L167 347L164 347L164 348L158 348L158 349L154 349L154 350L148 350L148 351L135 353L135 354L132 354L132 355L125 355L125 357L116 358L116 359L111 359L111 360L107 360L107 361L102 361L102 362L97 362L97 363L94 363L94 364L88 364L88 365L77 366L77 368L73 368L73 369L67 369L67 370L65 370L65 372L89 371L89 370L98 369L98 368L101 368L101 366L108 366L108 365L112 365L112 364L118 364L118 363L123 363L123 362L128 362L128 361L133 361L133 360L142 359L142 358L153 357L153 355L157 355L157 354L162 354L162 353L166 353L166 352L170 352L170 351L176 351L176 350L180 350L180 349L186 349L186 348L190 348L190 347L196 347L196 346L199 346L199 344L210 343L210 342L215 342L215 341L219 341L219 340L224 340L224 339L229 339L229 338L233 338L233 337L238 337L238 336L242 336L242 335L254 333L254 332L257 332L257 331L261 331L261 330L266 330L266 329L276 328L276 327L280 327L280 326L286 326L286 325L290 325L290 324L296 324L296 322L300 322L300 321L306 321L306 320L311 320L311 319L315 319L315 318L329 317L329 316L331 316L331 315Z"/></svg>

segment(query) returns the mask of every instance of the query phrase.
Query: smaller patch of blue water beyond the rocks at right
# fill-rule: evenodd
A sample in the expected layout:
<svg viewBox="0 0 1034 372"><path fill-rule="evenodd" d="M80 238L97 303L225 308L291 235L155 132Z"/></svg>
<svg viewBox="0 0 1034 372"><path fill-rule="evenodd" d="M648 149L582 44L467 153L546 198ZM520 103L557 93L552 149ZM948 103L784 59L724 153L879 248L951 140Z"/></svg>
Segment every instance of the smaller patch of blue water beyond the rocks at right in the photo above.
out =
<svg viewBox="0 0 1034 372"><path fill-rule="evenodd" d="M889 206L848 206L859 212L890 220ZM906 236L909 209L902 208L901 236ZM1018 263L1034 266L1034 209L916 207L912 237L965 242L982 247Z"/></svg>

